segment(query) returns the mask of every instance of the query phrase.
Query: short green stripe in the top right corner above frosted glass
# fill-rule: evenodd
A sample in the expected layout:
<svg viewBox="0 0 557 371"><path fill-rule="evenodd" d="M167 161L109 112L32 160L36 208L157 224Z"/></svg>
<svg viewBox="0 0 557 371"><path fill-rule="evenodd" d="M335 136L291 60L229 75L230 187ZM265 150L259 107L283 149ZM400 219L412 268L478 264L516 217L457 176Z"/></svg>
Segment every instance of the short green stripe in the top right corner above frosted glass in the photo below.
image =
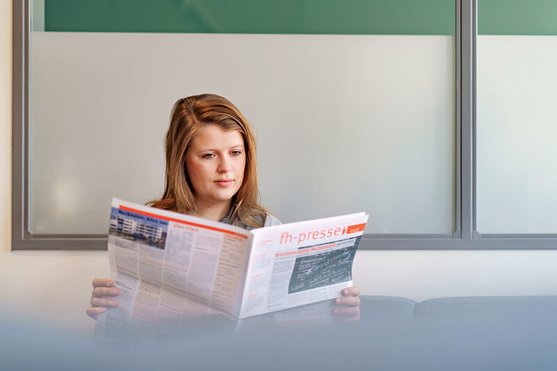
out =
<svg viewBox="0 0 557 371"><path fill-rule="evenodd" d="M557 35L557 0L478 0L480 35Z"/></svg>

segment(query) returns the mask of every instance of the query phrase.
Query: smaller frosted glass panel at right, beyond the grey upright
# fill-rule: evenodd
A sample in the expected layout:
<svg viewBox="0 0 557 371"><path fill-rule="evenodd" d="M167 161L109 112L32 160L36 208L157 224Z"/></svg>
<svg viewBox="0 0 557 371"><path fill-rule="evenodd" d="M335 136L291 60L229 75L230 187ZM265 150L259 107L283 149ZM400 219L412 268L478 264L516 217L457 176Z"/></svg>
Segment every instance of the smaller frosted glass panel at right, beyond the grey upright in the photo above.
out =
<svg viewBox="0 0 557 371"><path fill-rule="evenodd" d="M557 233L557 36L480 35L477 229Z"/></svg>

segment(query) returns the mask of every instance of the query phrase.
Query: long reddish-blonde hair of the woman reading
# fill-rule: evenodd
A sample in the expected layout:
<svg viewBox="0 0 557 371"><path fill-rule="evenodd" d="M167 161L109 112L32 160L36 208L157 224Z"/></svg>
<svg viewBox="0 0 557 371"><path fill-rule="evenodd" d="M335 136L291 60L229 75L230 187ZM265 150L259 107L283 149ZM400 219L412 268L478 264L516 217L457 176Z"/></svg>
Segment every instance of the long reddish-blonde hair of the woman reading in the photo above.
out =
<svg viewBox="0 0 557 371"><path fill-rule="evenodd" d="M267 211L259 205L256 163L256 140L248 120L234 104L214 94L185 97L175 102L170 127L165 136L166 177L164 194L148 205L164 210L189 213L198 210L198 202L185 167L186 153L201 127L217 125L224 130L237 130L244 139L246 168L244 180L233 197L234 210L230 223L261 227Z"/></svg>

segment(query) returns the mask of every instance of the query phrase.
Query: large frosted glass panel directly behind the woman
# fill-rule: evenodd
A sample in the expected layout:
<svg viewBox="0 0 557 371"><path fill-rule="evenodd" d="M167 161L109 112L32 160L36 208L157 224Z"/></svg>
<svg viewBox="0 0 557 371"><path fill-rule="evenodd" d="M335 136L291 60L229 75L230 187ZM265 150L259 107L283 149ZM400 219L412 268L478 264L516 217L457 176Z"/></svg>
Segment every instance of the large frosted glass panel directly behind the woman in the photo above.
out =
<svg viewBox="0 0 557 371"><path fill-rule="evenodd" d="M198 93L251 120L282 221L365 211L367 232L453 232L454 36L31 38L33 233L106 233L111 197L159 196L169 111Z"/></svg>

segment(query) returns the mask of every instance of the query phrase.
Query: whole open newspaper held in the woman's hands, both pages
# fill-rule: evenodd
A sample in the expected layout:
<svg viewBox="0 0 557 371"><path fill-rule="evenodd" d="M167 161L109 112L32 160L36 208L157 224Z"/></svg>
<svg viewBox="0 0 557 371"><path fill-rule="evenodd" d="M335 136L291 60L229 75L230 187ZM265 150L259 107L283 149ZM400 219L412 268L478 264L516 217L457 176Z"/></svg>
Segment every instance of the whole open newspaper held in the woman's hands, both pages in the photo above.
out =
<svg viewBox="0 0 557 371"><path fill-rule="evenodd" d="M340 297L368 215L245 230L113 199L108 236L120 305L100 325L236 318Z"/></svg>

